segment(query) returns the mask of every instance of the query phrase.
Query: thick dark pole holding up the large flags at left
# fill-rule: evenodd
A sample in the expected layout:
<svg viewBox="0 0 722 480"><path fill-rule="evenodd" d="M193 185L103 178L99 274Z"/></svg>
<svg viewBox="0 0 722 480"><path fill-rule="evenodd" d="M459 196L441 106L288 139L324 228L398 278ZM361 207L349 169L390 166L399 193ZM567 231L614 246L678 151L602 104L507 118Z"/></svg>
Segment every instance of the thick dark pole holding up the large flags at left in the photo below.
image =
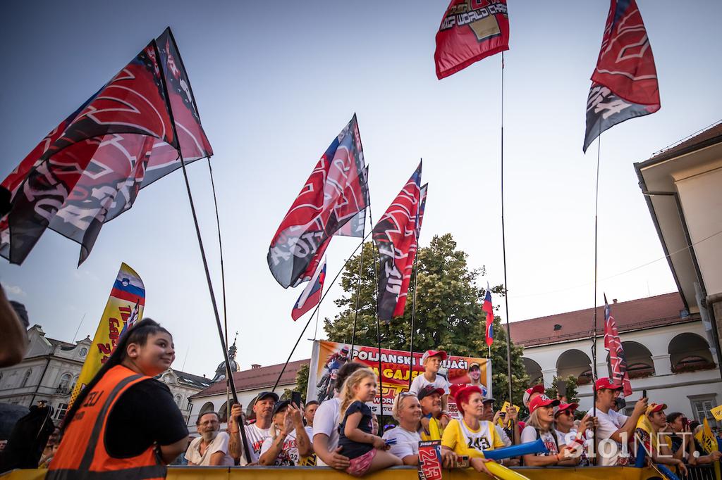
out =
<svg viewBox="0 0 722 480"><path fill-rule="evenodd" d="M173 33L170 34L171 39L173 40L173 43L175 43L175 39L173 39ZM156 58L160 58L160 52L158 50L158 45L153 40L153 49L155 50L155 56ZM179 58L180 60L180 58ZM160 70L160 78L162 80L163 86L166 86L167 83L165 81L165 72L162 68L159 68ZM168 115L170 116L170 125L173 126L173 137L175 138L175 141L178 141L178 130L175 128L175 118L173 117L173 107L170 106L170 98L168 97L168 94L165 95L165 105L168 107ZM223 328L221 326L221 319L218 314L218 305L216 303L216 295L213 292L213 283L211 281L211 272L208 270L208 259L206 259L206 251L203 248L203 239L201 238L201 228L198 224L198 215L196 215L196 205L193 203L193 195L191 194L191 183L188 181L188 171L186 170L186 161L183 159L183 151L181 151L181 144L178 143L178 159L181 160L181 169L183 170L183 179L186 181L186 191L188 192L188 203L191 205L191 215L193 215L193 225L196 227L196 238L198 239L198 246L201 250L201 259L203 260L203 269L206 272L206 283L208 283L208 293L211 297L211 304L213 306L213 314L216 318L216 326L218 328L218 337L221 341L221 348L223 350L223 360L225 362L226 366L226 372L230 372L230 360L228 359L228 350L227 350L227 344L225 342L225 339L223 337ZM238 403L238 394L236 394L235 391L235 383L233 381L233 375L226 375L228 379L228 383L230 383L231 393L233 395L233 401L235 403ZM239 425L240 427L240 425ZM239 428L240 430L240 436L241 440L243 440L243 453L245 455L245 460L248 461L248 463L251 462L251 452L248 450L248 439L245 437L245 429Z"/></svg>

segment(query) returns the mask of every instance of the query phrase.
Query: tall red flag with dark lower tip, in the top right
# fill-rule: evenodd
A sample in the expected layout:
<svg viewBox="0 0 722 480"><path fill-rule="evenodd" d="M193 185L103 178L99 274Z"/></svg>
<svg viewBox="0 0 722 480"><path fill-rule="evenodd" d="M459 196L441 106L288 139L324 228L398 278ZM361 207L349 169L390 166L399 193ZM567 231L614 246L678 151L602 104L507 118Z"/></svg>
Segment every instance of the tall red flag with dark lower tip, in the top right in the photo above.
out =
<svg viewBox="0 0 722 480"><path fill-rule="evenodd" d="M657 69L635 0L612 0L591 81L584 152L604 130L659 110Z"/></svg>

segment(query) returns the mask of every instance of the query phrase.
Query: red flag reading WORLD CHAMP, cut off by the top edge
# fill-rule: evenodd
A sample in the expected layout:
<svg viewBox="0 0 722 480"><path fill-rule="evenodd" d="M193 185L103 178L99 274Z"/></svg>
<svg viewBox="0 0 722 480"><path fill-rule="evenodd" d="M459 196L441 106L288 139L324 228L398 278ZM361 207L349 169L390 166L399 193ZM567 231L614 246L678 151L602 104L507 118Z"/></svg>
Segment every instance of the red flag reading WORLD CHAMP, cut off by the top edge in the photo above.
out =
<svg viewBox="0 0 722 480"><path fill-rule="evenodd" d="M504 50L509 50L506 0L451 0L436 33L439 80Z"/></svg>

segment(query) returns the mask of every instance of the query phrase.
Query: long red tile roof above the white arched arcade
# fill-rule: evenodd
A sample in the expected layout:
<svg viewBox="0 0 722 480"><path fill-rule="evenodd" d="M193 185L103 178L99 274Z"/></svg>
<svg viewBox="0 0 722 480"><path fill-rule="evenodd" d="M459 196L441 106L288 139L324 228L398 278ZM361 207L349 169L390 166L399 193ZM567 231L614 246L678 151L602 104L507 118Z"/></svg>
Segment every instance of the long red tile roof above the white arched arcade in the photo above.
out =
<svg viewBox="0 0 722 480"><path fill-rule="evenodd" d="M679 312L683 309L682 297L674 292L613 303L612 316L617 322L619 332L697 320L697 316L682 318ZM511 339L517 345L535 347L590 337L593 314L593 308L586 308L538 319L514 321L509 324ZM604 335L604 306L597 308L596 324L597 334ZM560 325L561 328L554 330L555 325Z"/></svg>

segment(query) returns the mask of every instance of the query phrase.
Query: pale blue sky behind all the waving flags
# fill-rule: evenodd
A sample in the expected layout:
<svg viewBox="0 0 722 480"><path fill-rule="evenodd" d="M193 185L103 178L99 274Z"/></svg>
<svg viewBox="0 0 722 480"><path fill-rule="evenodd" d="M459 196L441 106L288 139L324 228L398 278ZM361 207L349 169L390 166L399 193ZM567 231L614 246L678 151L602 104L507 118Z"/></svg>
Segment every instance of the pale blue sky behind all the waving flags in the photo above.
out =
<svg viewBox="0 0 722 480"><path fill-rule="evenodd" d="M662 107L602 135L599 298L606 291L619 301L675 289L633 162L722 117L722 4L638 4ZM303 328L290 319L299 292L277 285L266 252L318 157L354 112L375 220L423 157L430 190L421 244L451 232L471 267L487 267L480 284L503 283L501 58L438 81L434 35L446 6L445 0L7 2L0 18L0 175L170 25L215 151L227 308L231 333L240 332L242 368L282 362ZM601 0L509 1L504 151L511 321L593 301L597 144L587 156L581 145L608 8ZM219 290L208 166L198 161L188 172ZM355 246L354 239L334 240L329 279ZM78 337L92 336L126 262L144 280L147 316L175 336L174 367L212 375L221 356L181 172L143 190L132 210L103 227L90 258L76 268L78 252L77 244L48 231L22 267L0 263L0 280L11 298L26 303L31 324L70 340L85 315ZM331 300L340 294L329 293L321 316L333 316ZM309 355L310 343L302 342L295 359Z"/></svg>

